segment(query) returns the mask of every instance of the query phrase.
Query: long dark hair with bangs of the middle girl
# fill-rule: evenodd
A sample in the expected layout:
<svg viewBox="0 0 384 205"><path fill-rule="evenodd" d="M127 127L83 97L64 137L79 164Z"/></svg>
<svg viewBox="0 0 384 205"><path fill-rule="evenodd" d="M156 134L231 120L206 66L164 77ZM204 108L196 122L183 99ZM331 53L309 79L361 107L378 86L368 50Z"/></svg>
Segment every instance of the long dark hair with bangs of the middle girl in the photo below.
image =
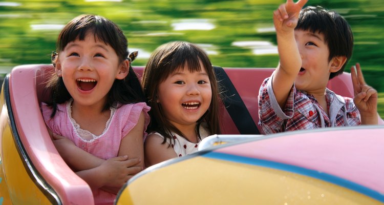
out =
<svg viewBox="0 0 384 205"><path fill-rule="evenodd" d="M200 62L203 68L200 66ZM172 133L185 138L184 134L173 126L166 118L157 103L156 96L160 83L178 69L188 66L190 72L205 69L211 86L212 98L208 110L198 120L196 131L200 137L199 127L202 121L206 122L209 134L220 134L219 125L219 91L214 69L208 55L198 46L189 42L170 42L157 48L148 60L143 74L144 94L151 107L151 131L159 132L164 136L163 144L168 139L173 139Z"/></svg>

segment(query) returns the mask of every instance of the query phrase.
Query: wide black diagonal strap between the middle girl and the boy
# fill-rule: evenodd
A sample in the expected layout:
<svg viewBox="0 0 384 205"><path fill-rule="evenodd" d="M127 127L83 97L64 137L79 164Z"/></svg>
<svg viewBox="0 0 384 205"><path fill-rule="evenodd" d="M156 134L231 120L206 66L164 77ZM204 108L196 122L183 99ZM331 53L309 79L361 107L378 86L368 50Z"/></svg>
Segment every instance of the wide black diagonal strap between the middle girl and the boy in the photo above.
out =
<svg viewBox="0 0 384 205"><path fill-rule="evenodd" d="M249 111L243 102L243 99L241 99L227 73L225 73L222 67L213 67L219 85L222 87L224 92L223 104L240 134L260 134L258 127L254 124L252 116L249 114Z"/></svg>

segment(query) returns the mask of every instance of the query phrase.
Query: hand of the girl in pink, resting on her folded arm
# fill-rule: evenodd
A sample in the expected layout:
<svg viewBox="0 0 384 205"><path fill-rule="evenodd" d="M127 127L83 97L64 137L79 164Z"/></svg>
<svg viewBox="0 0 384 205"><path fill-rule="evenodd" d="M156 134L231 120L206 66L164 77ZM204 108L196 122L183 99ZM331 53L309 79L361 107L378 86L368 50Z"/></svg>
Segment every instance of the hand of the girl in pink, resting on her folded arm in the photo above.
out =
<svg viewBox="0 0 384 205"><path fill-rule="evenodd" d="M137 166L139 163L138 158L128 159L126 155L105 160L99 167L104 176L104 185L121 188L126 181L143 170Z"/></svg>

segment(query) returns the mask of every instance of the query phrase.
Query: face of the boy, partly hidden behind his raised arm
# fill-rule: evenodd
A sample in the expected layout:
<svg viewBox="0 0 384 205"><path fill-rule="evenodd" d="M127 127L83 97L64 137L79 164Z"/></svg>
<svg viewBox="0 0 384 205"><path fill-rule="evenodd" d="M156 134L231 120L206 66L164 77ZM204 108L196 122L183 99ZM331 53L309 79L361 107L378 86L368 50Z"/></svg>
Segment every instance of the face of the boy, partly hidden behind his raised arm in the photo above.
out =
<svg viewBox="0 0 384 205"><path fill-rule="evenodd" d="M295 87L307 92L324 92L329 75L334 72L329 60L329 49L324 35L306 30L295 30L298 50L302 57L302 69L295 80Z"/></svg>

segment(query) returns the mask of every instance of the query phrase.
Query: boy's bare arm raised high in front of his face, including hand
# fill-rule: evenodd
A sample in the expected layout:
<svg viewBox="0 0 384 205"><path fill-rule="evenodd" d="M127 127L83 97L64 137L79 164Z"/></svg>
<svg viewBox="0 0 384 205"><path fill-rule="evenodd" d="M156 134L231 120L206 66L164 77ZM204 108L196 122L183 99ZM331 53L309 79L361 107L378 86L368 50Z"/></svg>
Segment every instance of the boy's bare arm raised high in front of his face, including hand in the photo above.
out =
<svg viewBox="0 0 384 205"><path fill-rule="evenodd" d="M276 30L280 63L276 68L272 88L276 100L281 108L285 106L288 94L295 81L295 78L302 67L302 59L298 52L294 28L297 25L297 18L300 10L308 0L287 0L273 12L273 24Z"/></svg>

